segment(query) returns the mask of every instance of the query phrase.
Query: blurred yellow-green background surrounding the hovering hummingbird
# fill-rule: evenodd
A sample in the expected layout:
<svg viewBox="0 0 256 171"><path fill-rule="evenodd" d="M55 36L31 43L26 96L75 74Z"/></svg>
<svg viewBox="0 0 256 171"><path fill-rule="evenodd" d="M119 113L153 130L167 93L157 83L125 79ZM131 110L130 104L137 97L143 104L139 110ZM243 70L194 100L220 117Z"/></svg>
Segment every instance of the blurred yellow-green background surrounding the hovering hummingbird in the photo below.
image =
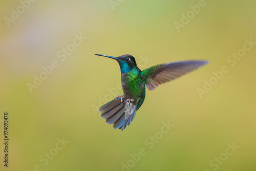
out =
<svg viewBox="0 0 256 171"><path fill-rule="evenodd" d="M10 138L8 168L0 144L1 170L255 170L256 45L236 65L227 60L243 52L245 39L256 41L256 2L206 0L191 12L200 3L1 1L0 142L5 111ZM178 32L174 23L187 13L189 23ZM65 55L67 48L72 52ZM102 99L122 95L120 69L95 53L131 54L140 69L188 59L210 63L146 90L135 120L121 132L96 109ZM41 74L53 61L58 67ZM216 81L212 72L223 66L228 73L200 97L198 88ZM45 80L31 93L28 83L40 74ZM174 125L168 133L148 140L168 121ZM69 143L56 150L62 137ZM228 143L239 146L232 155ZM135 161L131 155L141 148L146 154Z"/></svg>

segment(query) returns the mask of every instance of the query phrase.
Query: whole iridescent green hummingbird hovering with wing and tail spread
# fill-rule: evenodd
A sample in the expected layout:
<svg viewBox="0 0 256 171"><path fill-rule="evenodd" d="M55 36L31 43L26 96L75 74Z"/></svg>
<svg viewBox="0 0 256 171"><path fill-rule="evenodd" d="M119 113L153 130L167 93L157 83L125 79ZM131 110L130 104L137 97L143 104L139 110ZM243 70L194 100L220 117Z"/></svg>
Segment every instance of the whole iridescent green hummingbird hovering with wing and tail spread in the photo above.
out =
<svg viewBox="0 0 256 171"><path fill-rule="evenodd" d="M131 124L136 111L143 104L146 95L145 87L152 91L160 84L174 80L208 63L207 60L178 61L162 63L141 71L132 55L119 57L95 55L115 59L119 63L123 95L102 105L99 112L101 118L106 119L106 123L114 123L114 129L121 129L121 131Z"/></svg>

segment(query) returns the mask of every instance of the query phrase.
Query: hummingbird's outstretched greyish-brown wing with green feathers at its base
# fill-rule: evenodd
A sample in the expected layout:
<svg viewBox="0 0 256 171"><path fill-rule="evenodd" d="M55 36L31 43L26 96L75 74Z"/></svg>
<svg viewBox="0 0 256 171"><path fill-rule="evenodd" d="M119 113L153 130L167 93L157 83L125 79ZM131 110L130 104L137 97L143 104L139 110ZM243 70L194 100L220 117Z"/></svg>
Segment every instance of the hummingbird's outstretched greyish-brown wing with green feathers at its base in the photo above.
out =
<svg viewBox="0 0 256 171"><path fill-rule="evenodd" d="M187 60L173 63L163 63L141 72L141 76L145 79L146 87L154 90L159 84L174 80L190 71L193 71L205 64L205 60Z"/></svg>

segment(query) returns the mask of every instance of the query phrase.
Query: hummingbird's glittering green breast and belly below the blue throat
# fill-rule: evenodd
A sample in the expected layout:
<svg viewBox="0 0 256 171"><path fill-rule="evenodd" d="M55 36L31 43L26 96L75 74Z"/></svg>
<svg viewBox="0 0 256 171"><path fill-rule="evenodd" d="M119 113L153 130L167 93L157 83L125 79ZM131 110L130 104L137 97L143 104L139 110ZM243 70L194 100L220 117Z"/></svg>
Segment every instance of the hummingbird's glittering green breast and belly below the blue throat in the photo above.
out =
<svg viewBox="0 0 256 171"><path fill-rule="evenodd" d="M126 99L134 99L137 104L139 99L145 98L145 86L138 72L121 73L122 89Z"/></svg>

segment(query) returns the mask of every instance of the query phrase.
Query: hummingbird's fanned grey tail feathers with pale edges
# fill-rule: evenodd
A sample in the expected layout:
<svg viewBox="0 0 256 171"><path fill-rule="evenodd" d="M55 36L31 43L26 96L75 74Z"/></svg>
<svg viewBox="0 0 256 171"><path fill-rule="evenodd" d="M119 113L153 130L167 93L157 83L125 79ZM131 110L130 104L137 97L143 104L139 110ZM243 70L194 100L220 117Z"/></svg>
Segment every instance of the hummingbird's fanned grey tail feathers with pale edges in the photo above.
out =
<svg viewBox="0 0 256 171"><path fill-rule="evenodd" d="M125 101L125 98L122 98ZM127 104L127 103L126 103ZM133 106L131 109L127 110L127 106L121 102L121 98L117 100L112 100L99 108L101 112L101 118L106 119L106 123L113 124L114 129L125 129L129 126L135 117L137 111L137 106Z"/></svg>

